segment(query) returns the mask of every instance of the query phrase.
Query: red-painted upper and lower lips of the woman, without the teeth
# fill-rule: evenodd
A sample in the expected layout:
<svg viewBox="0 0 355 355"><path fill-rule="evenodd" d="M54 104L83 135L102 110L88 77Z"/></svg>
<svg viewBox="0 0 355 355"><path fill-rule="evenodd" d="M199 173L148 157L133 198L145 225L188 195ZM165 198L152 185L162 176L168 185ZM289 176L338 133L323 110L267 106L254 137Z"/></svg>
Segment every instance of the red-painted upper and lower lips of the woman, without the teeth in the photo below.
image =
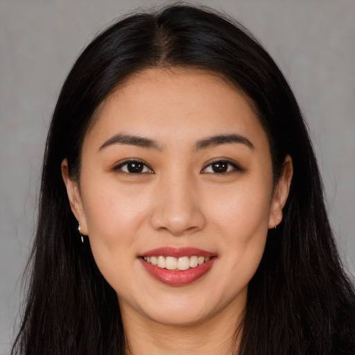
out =
<svg viewBox="0 0 355 355"><path fill-rule="evenodd" d="M158 256L175 258L198 256L209 257L211 259L195 268L189 268L188 270L168 270L166 268L159 268L159 266L148 263L148 261L143 259L144 257ZM157 281L170 286L184 286L195 282L211 269L216 259L216 254L197 248L157 248L139 255L139 260L148 274L157 279Z"/></svg>

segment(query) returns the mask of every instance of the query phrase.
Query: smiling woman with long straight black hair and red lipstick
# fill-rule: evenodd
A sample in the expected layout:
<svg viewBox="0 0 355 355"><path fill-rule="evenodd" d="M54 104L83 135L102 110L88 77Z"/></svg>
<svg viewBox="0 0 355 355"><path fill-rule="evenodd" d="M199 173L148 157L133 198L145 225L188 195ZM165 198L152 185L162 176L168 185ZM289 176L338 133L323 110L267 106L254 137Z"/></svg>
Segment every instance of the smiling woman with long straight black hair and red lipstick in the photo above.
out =
<svg viewBox="0 0 355 355"><path fill-rule="evenodd" d="M12 354L355 354L300 109L268 53L209 10L133 15L80 55L31 272Z"/></svg>

